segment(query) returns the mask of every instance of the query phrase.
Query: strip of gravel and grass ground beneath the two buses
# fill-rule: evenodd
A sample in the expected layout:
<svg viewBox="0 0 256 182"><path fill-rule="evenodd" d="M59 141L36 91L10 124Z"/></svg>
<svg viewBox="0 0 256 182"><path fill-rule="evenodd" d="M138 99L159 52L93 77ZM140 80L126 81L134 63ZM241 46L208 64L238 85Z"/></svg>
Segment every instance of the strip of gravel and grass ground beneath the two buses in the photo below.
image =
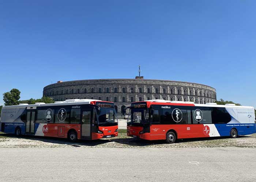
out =
<svg viewBox="0 0 256 182"><path fill-rule="evenodd" d="M114 147L114 148L182 148L182 147L256 147L256 134L239 136L238 138L214 137L182 139L174 144L165 141L144 141L126 136L120 131L118 137L96 141L80 140L70 143L62 138L22 136L0 133L0 147Z"/></svg>

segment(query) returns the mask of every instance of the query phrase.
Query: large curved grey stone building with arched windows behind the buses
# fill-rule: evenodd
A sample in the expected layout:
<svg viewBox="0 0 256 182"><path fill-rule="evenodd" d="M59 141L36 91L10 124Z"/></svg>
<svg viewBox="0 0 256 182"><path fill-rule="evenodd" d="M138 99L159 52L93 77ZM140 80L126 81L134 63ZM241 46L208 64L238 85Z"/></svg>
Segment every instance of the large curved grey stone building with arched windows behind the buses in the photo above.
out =
<svg viewBox="0 0 256 182"><path fill-rule="evenodd" d="M95 79L57 82L44 87L44 96L55 101L66 99L98 99L114 102L117 112L131 102L150 99L215 102L216 90L207 85L170 80Z"/></svg>

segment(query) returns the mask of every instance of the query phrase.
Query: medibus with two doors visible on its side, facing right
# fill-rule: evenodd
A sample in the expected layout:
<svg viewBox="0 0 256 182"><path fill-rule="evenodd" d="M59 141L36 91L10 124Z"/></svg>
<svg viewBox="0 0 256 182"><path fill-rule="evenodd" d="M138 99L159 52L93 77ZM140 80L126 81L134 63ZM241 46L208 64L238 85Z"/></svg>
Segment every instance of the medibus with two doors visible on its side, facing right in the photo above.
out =
<svg viewBox="0 0 256 182"><path fill-rule="evenodd" d="M71 142L118 135L114 103L91 99L4 106L0 126L0 131L17 136L68 138Z"/></svg>

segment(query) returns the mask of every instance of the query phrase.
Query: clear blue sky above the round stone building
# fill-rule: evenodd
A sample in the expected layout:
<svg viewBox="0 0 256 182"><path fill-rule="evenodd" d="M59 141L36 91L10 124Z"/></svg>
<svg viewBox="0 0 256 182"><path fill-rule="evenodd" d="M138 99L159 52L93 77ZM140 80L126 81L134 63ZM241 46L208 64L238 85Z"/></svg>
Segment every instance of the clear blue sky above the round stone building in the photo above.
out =
<svg viewBox="0 0 256 182"><path fill-rule="evenodd" d="M1 1L0 104L58 80L181 80L256 107L256 1Z"/></svg>

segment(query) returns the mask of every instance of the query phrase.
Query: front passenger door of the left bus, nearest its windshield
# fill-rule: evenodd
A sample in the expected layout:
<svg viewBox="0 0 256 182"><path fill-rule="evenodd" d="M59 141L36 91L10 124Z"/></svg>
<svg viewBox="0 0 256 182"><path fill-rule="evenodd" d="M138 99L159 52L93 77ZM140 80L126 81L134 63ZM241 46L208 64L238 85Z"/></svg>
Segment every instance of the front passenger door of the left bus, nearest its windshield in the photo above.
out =
<svg viewBox="0 0 256 182"><path fill-rule="evenodd" d="M82 126L81 126L81 137L91 137L91 123L92 123L92 109L82 110Z"/></svg>

